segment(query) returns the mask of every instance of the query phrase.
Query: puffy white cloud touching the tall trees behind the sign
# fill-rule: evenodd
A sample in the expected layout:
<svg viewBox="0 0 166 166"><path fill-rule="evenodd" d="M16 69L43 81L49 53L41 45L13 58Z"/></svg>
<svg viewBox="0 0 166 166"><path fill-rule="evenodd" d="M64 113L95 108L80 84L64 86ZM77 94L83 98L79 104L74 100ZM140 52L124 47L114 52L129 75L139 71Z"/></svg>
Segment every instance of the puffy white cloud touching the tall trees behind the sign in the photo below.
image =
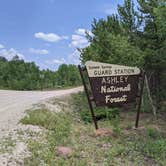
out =
<svg viewBox="0 0 166 166"><path fill-rule="evenodd" d="M84 48L89 46L89 42L86 39L86 32L93 36L92 32L83 28L79 28L75 31L75 34L72 35L72 41L70 43L70 47L79 47Z"/></svg>

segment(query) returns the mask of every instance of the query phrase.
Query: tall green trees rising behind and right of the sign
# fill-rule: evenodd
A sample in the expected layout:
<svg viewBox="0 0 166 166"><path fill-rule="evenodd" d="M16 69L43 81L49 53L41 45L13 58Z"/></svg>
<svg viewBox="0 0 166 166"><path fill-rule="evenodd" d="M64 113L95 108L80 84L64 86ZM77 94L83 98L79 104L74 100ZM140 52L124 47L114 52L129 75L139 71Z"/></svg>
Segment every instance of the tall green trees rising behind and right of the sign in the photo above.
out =
<svg viewBox="0 0 166 166"><path fill-rule="evenodd" d="M94 19L90 45L80 49L87 60L138 66L146 71L156 105L166 99L166 2L124 0L117 14Z"/></svg>

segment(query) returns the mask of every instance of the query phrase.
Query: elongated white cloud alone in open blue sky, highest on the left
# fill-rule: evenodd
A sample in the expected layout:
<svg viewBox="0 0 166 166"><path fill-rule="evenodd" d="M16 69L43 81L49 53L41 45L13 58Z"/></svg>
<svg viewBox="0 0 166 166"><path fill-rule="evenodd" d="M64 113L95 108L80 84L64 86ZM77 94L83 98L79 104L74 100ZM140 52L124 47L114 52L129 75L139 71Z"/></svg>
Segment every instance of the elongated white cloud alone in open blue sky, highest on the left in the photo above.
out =
<svg viewBox="0 0 166 166"><path fill-rule="evenodd" d="M60 40L67 40L68 36L59 36L55 33L43 33L43 32L38 32L35 33L34 35L38 39L42 39L47 42L58 42Z"/></svg>

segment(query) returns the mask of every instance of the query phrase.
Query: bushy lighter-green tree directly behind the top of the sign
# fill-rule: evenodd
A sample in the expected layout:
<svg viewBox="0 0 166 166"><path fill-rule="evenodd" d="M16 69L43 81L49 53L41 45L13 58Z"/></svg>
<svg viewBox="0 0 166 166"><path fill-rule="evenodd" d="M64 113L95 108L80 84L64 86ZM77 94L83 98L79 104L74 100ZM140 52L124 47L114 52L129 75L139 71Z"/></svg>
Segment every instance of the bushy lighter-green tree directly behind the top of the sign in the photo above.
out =
<svg viewBox="0 0 166 166"><path fill-rule="evenodd" d="M130 43L123 26L124 22L120 22L115 15L107 17L107 20L94 21L92 24L94 36L91 45L81 51L82 62L94 60L142 66L144 53Z"/></svg>

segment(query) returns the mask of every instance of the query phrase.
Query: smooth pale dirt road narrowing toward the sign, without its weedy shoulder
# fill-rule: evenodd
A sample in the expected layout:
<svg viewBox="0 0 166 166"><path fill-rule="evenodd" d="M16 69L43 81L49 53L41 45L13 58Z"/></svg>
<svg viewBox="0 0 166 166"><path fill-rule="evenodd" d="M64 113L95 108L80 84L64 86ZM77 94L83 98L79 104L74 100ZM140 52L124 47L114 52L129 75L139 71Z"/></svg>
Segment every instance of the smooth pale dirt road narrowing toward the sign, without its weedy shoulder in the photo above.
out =
<svg viewBox="0 0 166 166"><path fill-rule="evenodd" d="M26 109L52 97L60 97L81 91L82 87L57 91L0 90L0 137L15 127Z"/></svg>

